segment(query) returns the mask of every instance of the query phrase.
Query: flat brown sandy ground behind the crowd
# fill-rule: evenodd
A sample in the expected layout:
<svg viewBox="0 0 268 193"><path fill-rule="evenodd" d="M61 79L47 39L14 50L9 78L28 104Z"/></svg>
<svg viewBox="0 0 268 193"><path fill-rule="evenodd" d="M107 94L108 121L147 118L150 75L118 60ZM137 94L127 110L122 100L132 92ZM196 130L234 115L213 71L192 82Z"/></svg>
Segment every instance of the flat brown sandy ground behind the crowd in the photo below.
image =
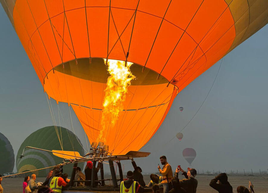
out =
<svg viewBox="0 0 268 193"><path fill-rule="evenodd" d="M214 178L213 175L197 175L198 186L197 192L207 193L216 192L209 186L210 180ZM4 178L2 186L4 193L19 193L22 192L22 182L24 178ZM43 181L44 178L40 178ZM37 181L39 181L37 179ZM145 183L149 182L149 175L144 176ZM236 193L236 188L239 185L248 186L248 181L254 184L254 190L256 193L268 192L268 176L229 176L229 182L233 186L233 192Z"/></svg>

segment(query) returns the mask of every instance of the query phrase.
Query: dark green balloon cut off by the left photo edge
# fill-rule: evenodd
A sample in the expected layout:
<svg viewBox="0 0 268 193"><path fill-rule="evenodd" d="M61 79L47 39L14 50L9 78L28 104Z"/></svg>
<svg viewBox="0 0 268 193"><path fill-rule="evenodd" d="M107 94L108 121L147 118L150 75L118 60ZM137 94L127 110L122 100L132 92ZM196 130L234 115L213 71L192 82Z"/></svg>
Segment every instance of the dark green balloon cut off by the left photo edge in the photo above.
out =
<svg viewBox="0 0 268 193"><path fill-rule="evenodd" d="M0 157L0 174L13 172L15 164L14 151L9 140L2 133L0 133Z"/></svg>

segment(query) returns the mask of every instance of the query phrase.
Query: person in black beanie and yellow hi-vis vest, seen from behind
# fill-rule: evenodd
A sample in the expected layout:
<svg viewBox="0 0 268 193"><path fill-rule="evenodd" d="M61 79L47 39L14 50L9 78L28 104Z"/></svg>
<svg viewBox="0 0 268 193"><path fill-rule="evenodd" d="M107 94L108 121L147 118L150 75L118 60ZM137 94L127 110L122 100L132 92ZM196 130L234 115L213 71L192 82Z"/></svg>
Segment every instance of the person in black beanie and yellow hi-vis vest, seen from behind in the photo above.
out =
<svg viewBox="0 0 268 193"><path fill-rule="evenodd" d="M142 187L138 182L133 180L133 172L127 172L127 180L121 181L120 193L137 193L144 192L144 187Z"/></svg>

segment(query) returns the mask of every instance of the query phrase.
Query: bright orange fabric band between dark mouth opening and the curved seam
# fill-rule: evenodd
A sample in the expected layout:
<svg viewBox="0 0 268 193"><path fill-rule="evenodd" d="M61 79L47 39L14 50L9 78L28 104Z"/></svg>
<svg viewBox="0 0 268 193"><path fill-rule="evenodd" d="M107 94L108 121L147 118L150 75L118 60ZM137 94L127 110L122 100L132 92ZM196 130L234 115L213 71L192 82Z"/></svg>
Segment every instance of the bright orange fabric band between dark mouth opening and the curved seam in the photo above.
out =
<svg viewBox="0 0 268 193"><path fill-rule="evenodd" d="M45 91L49 97L60 102L102 109L106 84L80 79L58 71L55 73L51 71L48 77L45 80ZM122 107L139 109L161 105L163 98L167 98L173 92L172 89L171 86L167 87L167 84L129 86Z"/></svg>

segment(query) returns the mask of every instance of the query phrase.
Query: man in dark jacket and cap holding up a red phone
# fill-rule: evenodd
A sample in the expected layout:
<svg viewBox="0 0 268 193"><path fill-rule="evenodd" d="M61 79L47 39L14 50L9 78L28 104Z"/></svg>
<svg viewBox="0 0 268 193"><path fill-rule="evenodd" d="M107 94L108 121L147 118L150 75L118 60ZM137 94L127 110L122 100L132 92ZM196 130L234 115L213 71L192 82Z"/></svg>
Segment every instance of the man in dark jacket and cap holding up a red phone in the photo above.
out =
<svg viewBox="0 0 268 193"><path fill-rule="evenodd" d="M178 173L182 172L182 175L185 176L185 179L180 180L180 187L185 189L186 193L196 193L198 181L195 179L197 174L194 168L188 168L188 172L186 173L183 169L176 169L175 178L178 178Z"/></svg>

